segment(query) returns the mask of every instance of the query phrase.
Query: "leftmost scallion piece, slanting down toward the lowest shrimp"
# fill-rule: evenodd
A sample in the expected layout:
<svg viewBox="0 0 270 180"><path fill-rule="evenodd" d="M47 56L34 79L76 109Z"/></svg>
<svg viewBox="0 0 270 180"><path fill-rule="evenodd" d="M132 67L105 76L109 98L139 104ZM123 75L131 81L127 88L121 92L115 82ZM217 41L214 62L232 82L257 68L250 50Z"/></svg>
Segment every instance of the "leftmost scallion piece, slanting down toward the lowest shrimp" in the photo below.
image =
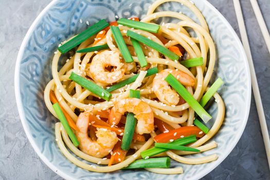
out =
<svg viewBox="0 0 270 180"><path fill-rule="evenodd" d="M74 144L74 146L79 146L79 141L78 139L76 138L75 134L73 133L73 131L70 129L69 125L68 125L68 122L58 104L55 103L52 105L53 107L53 110L55 110L56 114L57 114L57 117L58 119L60 120L60 122L62 123L63 127L65 128L66 132L67 132L67 135L69 136L69 138L71 139L72 143Z"/></svg>

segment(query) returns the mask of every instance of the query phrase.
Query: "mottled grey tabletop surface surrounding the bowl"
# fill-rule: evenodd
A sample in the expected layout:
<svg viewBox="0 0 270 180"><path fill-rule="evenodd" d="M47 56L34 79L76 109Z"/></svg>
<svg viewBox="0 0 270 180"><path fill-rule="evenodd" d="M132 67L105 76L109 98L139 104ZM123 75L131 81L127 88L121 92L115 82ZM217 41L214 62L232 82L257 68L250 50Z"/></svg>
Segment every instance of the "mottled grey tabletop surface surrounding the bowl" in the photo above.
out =
<svg viewBox="0 0 270 180"><path fill-rule="evenodd" d="M268 129L270 130L270 55L248 0L240 0ZM50 0L0 0L0 180L62 179L35 154L24 133L14 95L14 66L23 38ZM239 34L232 0L209 0ZM258 0L270 29L270 0ZM203 179L270 179L254 97L246 129L223 163Z"/></svg>

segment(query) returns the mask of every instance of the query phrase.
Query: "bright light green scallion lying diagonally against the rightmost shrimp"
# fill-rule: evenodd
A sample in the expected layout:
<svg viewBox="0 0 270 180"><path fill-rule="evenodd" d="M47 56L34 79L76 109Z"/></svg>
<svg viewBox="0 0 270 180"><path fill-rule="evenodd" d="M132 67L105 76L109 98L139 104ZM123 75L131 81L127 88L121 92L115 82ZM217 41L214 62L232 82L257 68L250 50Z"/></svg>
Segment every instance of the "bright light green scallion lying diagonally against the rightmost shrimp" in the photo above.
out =
<svg viewBox="0 0 270 180"><path fill-rule="evenodd" d="M191 96L185 86L183 86L172 74L169 74L165 80L172 86L173 89L192 107L202 120L207 123L212 117L205 111L199 102Z"/></svg>

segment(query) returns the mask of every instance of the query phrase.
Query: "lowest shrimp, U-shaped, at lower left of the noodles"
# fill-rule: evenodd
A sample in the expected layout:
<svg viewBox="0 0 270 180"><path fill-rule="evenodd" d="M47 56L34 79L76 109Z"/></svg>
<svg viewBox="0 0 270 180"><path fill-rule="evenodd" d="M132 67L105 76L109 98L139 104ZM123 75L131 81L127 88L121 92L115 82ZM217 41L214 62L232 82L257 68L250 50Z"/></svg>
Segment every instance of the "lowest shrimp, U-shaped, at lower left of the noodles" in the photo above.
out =
<svg viewBox="0 0 270 180"><path fill-rule="evenodd" d="M112 151L114 145L118 141L115 132L111 132L110 130L103 128L97 128L97 141L92 141L87 134L89 126L89 113L81 113L78 117L76 125L79 129L79 131L75 132L75 135L80 143L79 148L82 152L88 155L100 158L104 157Z"/></svg>

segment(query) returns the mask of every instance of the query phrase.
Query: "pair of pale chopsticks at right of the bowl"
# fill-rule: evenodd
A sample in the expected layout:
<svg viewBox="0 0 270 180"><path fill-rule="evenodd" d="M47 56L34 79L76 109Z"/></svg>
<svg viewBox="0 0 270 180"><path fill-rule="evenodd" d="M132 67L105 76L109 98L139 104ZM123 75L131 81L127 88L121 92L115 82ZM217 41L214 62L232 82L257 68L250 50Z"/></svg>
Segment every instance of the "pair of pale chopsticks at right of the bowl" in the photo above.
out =
<svg viewBox="0 0 270 180"><path fill-rule="evenodd" d="M267 48L268 48L269 53L270 53L270 36L269 36L268 31L267 31L267 27L265 25L265 22L263 20L263 16L261 14L259 5L258 5L256 0L250 0L250 3L254 9L255 15L257 17L257 21L259 23L264 40L266 42ZM250 74L251 74L251 84L253 87L253 94L255 97L255 103L256 103L257 111L258 111L258 115L259 115L259 121L260 121L260 125L261 125L262 137L263 137L264 147L265 147L265 151L266 151L266 156L268 159L268 165L270 167L270 139L269 139L267 124L266 124L266 120L265 120L265 116L264 116L262 100L261 100L259 86L258 86L258 82L257 82L257 78L256 78L255 68L254 68L254 64L253 64L253 60L252 60L252 56L251 56L251 52L250 52L250 47L248 44L247 33L246 33L246 29L245 29L245 23L244 23L244 19L243 19L242 10L241 10L241 5L240 5L239 0L233 0L233 4L235 5L235 11L236 11L237 21L238 21L238 25L239 25L240 34L241 34L241 39L242 39L242 43L243 43L244 49L246 51L247 60L249 63Z"/></svg>

